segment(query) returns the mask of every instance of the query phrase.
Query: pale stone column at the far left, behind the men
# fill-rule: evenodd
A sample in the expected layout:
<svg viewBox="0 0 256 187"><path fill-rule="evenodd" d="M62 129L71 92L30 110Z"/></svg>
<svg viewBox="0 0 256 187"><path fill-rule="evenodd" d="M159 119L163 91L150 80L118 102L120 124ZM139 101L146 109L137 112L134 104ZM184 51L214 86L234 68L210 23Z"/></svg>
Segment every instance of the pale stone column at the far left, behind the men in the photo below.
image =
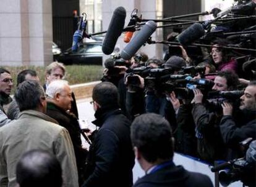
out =
<svg viewBox="0 0 256 187"><path fill-rule="evenodd" d="M2 0L0 65L44 66L53 61L51 0Z"/></svg>

